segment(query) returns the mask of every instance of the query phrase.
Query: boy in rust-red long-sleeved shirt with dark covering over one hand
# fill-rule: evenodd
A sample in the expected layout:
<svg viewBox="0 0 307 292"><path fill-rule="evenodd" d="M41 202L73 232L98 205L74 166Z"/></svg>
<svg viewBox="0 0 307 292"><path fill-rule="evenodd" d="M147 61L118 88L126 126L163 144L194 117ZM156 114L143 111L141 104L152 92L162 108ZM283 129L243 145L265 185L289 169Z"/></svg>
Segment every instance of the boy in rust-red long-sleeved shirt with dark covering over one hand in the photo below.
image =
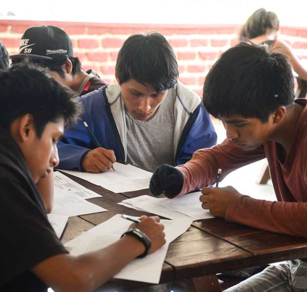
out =
<svg viewBox="0 0 307 292"><path fill-rule="evenodd" d="M307 237L307 100L294 100L285 55L239 44L221 55L206 77L203 101L227 139L193 154L185 165L162 165L151 179L154 195L173 198L197 188L216 217L277 233ZM278 201L256 200L233 187L207 187L246 164L267 158ZM300 280L297 276L300 275ZM270 266L229 291L306 291L307 263ZM300 289L305 290L300 290ZM291 290L293 289L293 290Z"/></svg>

